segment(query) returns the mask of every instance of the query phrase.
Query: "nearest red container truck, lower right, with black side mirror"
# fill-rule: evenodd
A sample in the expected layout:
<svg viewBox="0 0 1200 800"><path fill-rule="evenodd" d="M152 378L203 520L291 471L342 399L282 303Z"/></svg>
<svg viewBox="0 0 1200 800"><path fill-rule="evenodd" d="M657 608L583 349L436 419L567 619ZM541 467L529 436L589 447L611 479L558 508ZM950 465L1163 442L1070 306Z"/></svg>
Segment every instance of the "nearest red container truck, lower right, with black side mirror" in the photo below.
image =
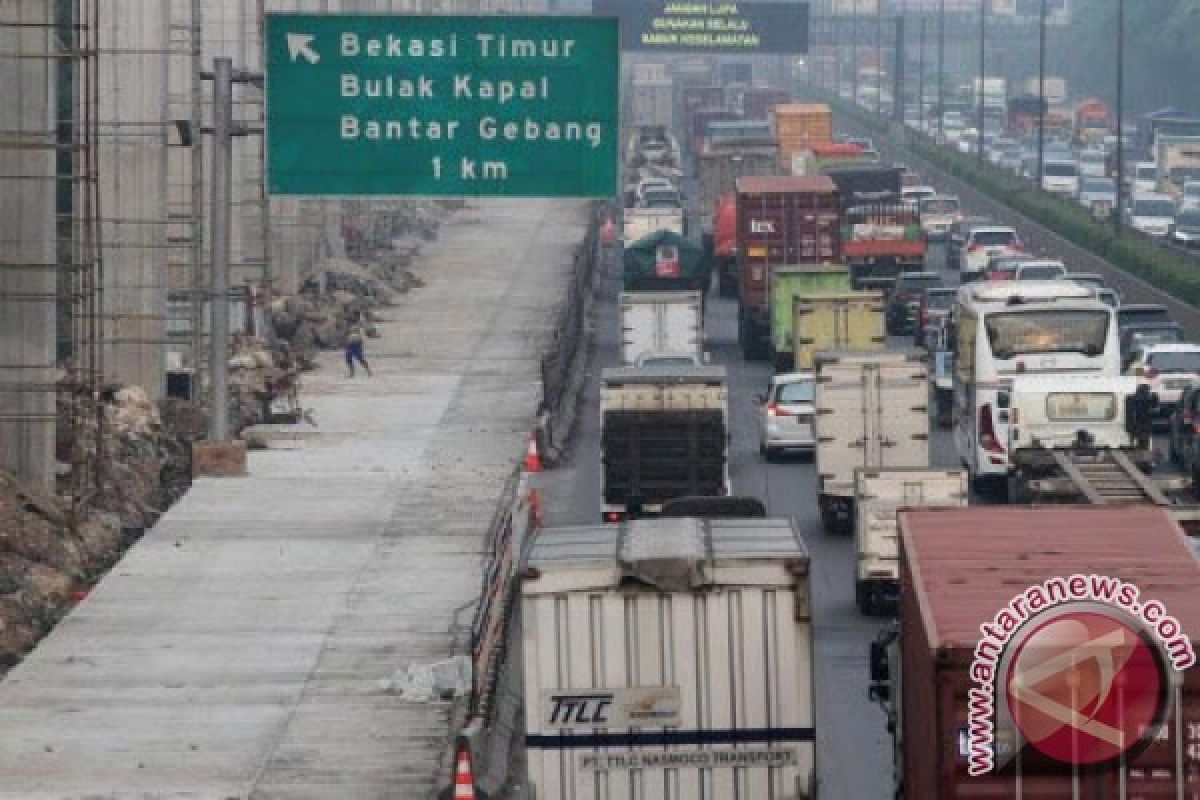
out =
<svg viewBox="0 0 1200 800"><path fill-rule="evenodd" d="M1073 775L1070 766L1046 757L1032 745L1025 745L1020 748L1020 758L1013 759L1016 736L1008 726L1001 726L990 750L1004 756L1003 768L979 776L968 771L971 754L979 752L968 727L968 698L972 698L968 692L978 687L980 680L973 669L979 663L977 645L984 636L980 625L990 624L995 631L1001 610L1013 608L1019 597L1031 597L1032 588L1058 578L1086 576L1090 581L1098 576L1116 578L1126 582L1120 585L1140 590L1139 612L1124 619L1146 630L1133 634L1132 628L1115 628L1123 632L1120 646L1111 644L1111 633L1105 633L1103 639L1090 638L1100 634L1084 627L1086 636L1072 639L1062 636L1062 628L1056 628L1060 638L1054 639L1054 658L1082 667L1070 666L1062 670L1050 663L1050 650L1040 649L1045 640L1036 638L1051 619L1042 614L1105 609L1114 606L1111 601L1093 601L1086 606L1062 603L1052 610L1043 607L1028 616L1024 626L1014 628L1006 645L1012 652L991 651L998 658L996 674L1003 676L995 680L995 697L1021 690L1044 692L1018 694L1021 699L1012 702L1014 712L1024 726L1046 722L1058 726L1055 735L1066 733L1067 741L1076 747L1074 752L1099 741L1090 740L1088 733L1105 736L1112 730L1098 726L1121 726L1121 721L1128 718L1126 710L1134 708L1133 700L1120 706L1104 705L1129 697L1116 692L1158 686L1154 680L1174 670L1169 661L1175 657L1176 646L1190 646L1193 651L1200 646L1200 561L1168 510L1156 506L976 506L902 510L899 521L899 636L889 654L882 642L871 649L871 693L889 709L889 722L898 733L898 798L1154 800L1200 796L1200 668L1196 667L1175 673L1176 686L1162 685L1163 693L1157 697L1165 708L1165 726L1148 747L1132 751L1123 764L1076 768ZM1099 585L1112 584L1102 582ZM1054 596L1052 591L1049 594ZM1132 658L1117 660L1114 654L1138 648L1129 643L1154 638L1150 630L1153 626L1138 622L1138 613L1148 609L1152 600L1162 603L1165 614L1178 621L1175 645L1169 645L1166 637L1159 633L1163 639L1160 661L1147 667ZM1102 612L1099 619L1109 616ZM1081 625L1078 616L1069 615L1058 616L1056 624L1064 621L1076 628ZM1145 652L1153 649L1151 645ZM1024 652L1042 658L1033 666L1043 675L1033 676L1026 670L1028 662L1016 661ZM1009 656L1012 661L1006 662ZM1110 661L1108 656L1114 658ZM899 670L889 669L896 663ZM1014 663L1020 664L1020 670L1013 672ZM1105 673L1105 663L1116 664L1116 668ZM1129 669L1138 663L1144 669ZM883 674L889 672L890 675ZM1064 699L1069 698L1069 692L1064 694L1063 686L1091 686L1091 690L1074 691L1091 691L1092 697L1099 698L1093 700L1094 710L1088 716L1074 717L1074 726L1070 710L1080 709L1080 704ZM1115 712L1115 708L1120 708L1120 712ZM1049 716L1037 717L1038 714ZM1112 723L1114 714L1116 723ZM1042 741L1043 746L1051 746L1045 739Z"/></svg>

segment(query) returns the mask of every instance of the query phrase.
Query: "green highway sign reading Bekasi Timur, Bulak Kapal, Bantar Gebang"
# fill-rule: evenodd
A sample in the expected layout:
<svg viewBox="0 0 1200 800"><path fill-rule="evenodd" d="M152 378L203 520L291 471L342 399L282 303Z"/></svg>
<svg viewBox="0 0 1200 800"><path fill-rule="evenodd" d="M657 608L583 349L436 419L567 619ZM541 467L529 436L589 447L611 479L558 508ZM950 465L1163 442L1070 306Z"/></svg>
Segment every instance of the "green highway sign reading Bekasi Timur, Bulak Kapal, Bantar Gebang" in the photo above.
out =
<svg viewBox="0 0 1200 800"><path fill-rule="evenodd" d="M611 197L619 48L605 18L268 14L268 190Z"/></svg>

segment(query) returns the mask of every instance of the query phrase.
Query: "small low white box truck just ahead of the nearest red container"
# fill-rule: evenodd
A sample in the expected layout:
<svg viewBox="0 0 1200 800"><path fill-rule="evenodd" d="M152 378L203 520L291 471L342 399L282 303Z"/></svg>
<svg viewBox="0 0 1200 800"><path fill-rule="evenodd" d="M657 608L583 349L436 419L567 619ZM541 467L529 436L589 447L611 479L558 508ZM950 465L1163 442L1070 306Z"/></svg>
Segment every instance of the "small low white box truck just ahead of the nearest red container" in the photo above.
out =
<svg viewBox="0 0 1200 800"><path fill-rule="evenodd" d="M868 615L893 613L899 600L900 509L965 506L966 470L892 468L854 470L854 601Z"/></svg>

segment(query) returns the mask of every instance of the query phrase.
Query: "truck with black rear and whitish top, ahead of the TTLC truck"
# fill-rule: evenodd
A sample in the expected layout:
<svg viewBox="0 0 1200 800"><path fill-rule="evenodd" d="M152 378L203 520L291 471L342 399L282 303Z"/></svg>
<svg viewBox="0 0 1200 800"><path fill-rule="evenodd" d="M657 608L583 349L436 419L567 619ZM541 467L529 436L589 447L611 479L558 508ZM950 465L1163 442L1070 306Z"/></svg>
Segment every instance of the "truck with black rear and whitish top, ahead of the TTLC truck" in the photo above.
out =
<svg viewBox="0 0 1200 800"><path fill-rule="evenodd" d="M731 493L725 367L617 367L601 381L604 522Z"/></svg>

